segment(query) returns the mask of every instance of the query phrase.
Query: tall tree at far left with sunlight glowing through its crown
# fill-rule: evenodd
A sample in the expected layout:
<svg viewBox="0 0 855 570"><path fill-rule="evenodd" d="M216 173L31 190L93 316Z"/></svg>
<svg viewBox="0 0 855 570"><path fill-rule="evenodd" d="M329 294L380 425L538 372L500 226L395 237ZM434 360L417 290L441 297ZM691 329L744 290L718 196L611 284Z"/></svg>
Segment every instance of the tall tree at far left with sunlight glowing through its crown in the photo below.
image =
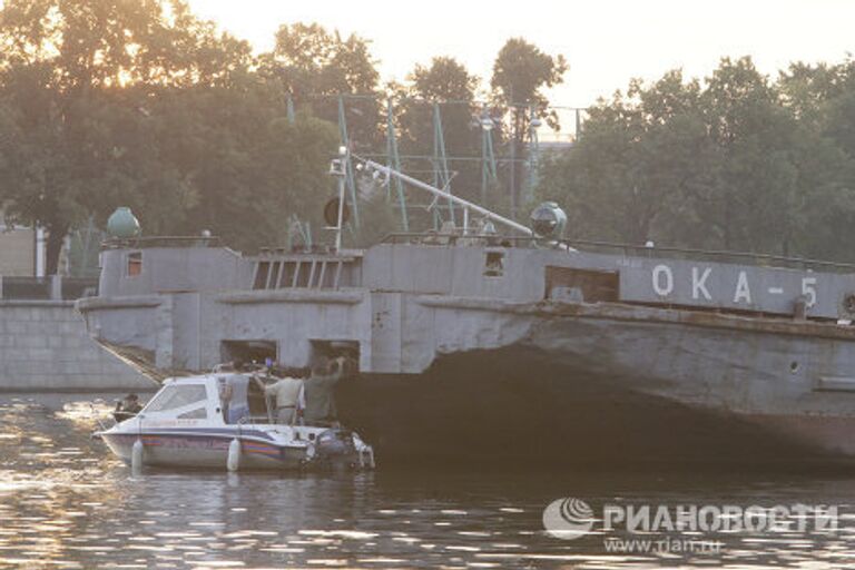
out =
<svg viewBox="0 0 855 570"><path fill-rule="evenodd" d="M81 216L135 191L117 125L136 125L146 87L227 85L246 72L246 43L218 36L180 0L7 0L0 89L16 127L0 199L7 216L48 230L47 269ZM135 89L130 89L135 88ZM127 92L126 92L127 90ZM118 185L117 185L118 183Z"/></svg>

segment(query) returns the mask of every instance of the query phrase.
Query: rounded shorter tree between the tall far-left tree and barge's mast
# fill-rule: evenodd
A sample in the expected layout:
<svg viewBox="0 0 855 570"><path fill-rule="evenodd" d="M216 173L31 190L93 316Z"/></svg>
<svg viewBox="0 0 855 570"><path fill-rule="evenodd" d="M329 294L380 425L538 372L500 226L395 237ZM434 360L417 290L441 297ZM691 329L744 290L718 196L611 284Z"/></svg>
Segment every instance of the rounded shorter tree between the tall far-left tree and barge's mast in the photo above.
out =
<svg viewBox="0 0 855 570"><path fill-rule="evenodd" d="M322 227L337 135L334 126L304 115L292 125L279 96L276 86L247 80L168 88L147 101L140 146L151 149L156 168L139 173L129 204L148 232L209 229L254 250L284 244L292 214ZM150 199L157 188L163 204Z"/></svg>

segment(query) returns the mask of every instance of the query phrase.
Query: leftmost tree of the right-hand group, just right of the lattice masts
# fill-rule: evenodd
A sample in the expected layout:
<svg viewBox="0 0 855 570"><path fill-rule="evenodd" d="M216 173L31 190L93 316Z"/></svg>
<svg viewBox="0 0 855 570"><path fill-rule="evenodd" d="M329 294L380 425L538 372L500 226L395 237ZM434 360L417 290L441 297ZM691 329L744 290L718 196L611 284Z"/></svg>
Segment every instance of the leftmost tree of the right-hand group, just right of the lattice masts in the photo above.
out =
<svg viewBox="0 0 855 570"><path fill-rule="evenodd" d="M711 245L696 232L696 196L709 184L714 148L700 87L679 71L590 109L584 137L549 155L539 195L568 208L572 237Z"/></svg>

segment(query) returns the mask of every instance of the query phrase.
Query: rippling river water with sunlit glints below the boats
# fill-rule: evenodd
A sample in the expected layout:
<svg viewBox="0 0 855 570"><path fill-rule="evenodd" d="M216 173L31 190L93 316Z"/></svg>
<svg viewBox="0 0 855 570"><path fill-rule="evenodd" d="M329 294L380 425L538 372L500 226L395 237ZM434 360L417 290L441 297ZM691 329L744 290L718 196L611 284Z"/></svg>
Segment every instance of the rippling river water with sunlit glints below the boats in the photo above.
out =
<svg viewBox="0 0 855 570"><path fill-rule="evenodd" d="M363 474L134 476L90 438L112 399L0 395L0 568L855 568L855 473L384 470L381 456ZM544 531L566 497L599 518L574 540ZM720 518L605 530L609 504ZM723 523L754 505L790 510L774 529ZM795 505L827 507L833 524Z"/></svg>

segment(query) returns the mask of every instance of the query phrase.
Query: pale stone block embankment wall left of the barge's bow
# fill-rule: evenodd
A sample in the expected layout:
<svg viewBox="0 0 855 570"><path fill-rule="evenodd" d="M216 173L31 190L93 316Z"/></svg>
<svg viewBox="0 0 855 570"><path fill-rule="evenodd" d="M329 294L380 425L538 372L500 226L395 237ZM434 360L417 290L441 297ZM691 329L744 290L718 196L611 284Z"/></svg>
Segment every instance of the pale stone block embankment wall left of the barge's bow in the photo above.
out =
<svg viewBox="0 0 855 570"><path fill-rule="evenodd" d="M0 299L0 391L155 387L89 337L73 301Z"/></svg>

